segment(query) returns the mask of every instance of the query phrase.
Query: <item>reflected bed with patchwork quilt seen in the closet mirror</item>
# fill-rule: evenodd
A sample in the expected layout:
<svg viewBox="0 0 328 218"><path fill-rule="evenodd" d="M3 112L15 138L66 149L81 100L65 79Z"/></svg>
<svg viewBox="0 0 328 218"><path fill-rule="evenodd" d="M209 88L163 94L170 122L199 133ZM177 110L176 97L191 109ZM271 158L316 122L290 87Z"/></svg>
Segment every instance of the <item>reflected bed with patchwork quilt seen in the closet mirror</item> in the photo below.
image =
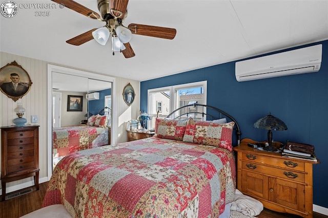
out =
<svg viewBox="0 0 328 218"><path fill-rule="evenodd" d="M98 120L97 117L99 117ZM53 128L54 166L62 158L75 151L110 144L111 128L108 120L105 122L104 119L108 119L108 116L92 116L86 125Z"/></svg>

